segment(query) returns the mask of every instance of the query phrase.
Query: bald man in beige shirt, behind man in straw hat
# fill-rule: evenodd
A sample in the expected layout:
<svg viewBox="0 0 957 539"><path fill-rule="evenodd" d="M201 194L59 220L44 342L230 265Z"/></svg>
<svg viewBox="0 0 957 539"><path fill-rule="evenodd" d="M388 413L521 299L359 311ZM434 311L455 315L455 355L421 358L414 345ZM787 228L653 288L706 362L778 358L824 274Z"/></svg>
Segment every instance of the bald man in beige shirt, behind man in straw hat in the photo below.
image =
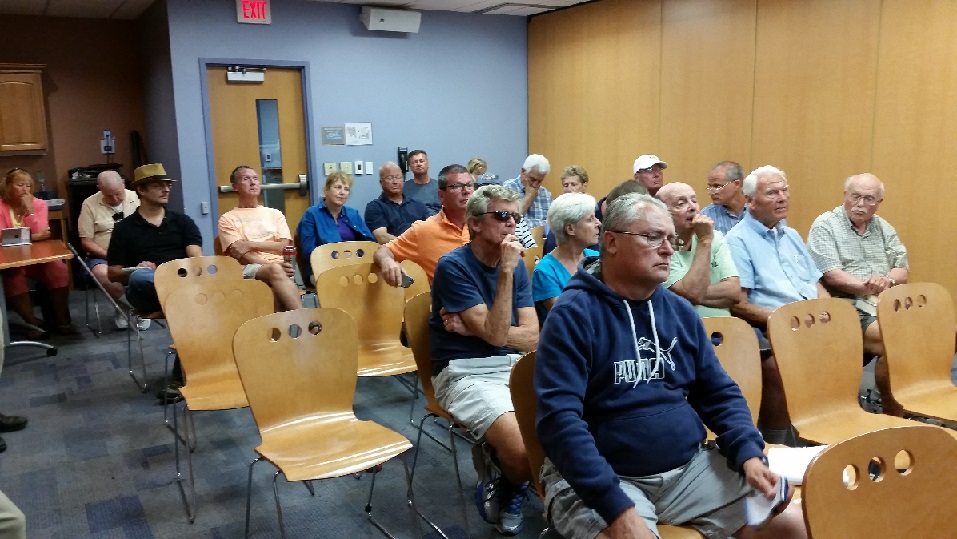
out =
<svg viewBox="0 0 957 539"><path fill-rule="evenodd" d="M114 283L107 277L106 250L110 247L113 226L136 211L140 199L136 193L126 189L123 178L115 170L101 172L96 177L96 186L99 191L83 201L76 230L80 236L80 246L87 255L86 265L93 277L110 297L120 301L123 297L123 285ZM116 327L125 329L128 325L126 313L117 311L113 323ZM137 322L139 329L147 329L149 326L149 320Z"/></svg>

